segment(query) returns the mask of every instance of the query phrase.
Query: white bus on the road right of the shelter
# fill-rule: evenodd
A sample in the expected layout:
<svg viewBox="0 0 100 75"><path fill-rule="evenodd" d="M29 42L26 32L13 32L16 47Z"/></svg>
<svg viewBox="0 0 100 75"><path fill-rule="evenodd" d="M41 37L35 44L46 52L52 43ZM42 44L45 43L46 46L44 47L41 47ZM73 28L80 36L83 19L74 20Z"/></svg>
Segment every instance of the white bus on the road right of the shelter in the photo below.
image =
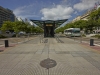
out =
<svg viewBox="0 0 100 75"><path fill-rule="evenodd" d="M68 28L64 30L64 34L68 37L78 37L81 36L80 28Z"/></svg>

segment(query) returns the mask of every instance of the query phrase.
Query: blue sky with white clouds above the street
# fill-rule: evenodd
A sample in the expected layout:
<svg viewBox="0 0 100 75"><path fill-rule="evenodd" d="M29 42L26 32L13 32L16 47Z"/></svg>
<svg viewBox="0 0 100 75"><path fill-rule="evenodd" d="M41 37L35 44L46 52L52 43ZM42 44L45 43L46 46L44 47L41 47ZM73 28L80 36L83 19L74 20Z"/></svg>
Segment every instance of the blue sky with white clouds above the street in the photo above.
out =
<svg viewBox="0 0 100 75"><path fill-rule="evenodd" d="M100 0L0 0L0 6L28 20L73 20L94 8Z"/></svg>

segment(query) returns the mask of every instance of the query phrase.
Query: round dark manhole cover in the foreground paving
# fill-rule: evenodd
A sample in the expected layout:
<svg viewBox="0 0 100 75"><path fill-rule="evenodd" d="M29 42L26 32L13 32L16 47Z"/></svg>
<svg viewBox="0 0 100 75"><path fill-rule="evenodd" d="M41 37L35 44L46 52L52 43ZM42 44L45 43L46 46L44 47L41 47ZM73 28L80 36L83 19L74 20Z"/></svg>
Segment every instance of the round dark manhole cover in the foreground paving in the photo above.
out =
<svg viewBox="0 0 100 75"><path fill-rule="evenodd" d="M41 65L42 67L44 67L44 68L49 69L49 68L55 67L55 66L57 65L57 63L56 63L55 60L52 60L52 59L50 59L50 58L47 58L47 59L41 61L41 62L40 62L40 65Z"/></svg>

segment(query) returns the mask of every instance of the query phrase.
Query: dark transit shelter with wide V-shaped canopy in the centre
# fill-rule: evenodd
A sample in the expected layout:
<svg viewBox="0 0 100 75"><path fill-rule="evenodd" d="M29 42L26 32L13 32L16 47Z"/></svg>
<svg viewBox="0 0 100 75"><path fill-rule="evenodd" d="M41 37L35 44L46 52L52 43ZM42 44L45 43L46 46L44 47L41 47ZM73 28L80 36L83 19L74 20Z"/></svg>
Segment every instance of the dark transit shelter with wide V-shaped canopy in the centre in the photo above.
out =
<svg viewBox="0 0 100 75"><path fill-rule="evenodd" d="M54 30L66 22L68 19L63 20L31 20L37 26L44 29L44 37L54 37Z"/></svg>

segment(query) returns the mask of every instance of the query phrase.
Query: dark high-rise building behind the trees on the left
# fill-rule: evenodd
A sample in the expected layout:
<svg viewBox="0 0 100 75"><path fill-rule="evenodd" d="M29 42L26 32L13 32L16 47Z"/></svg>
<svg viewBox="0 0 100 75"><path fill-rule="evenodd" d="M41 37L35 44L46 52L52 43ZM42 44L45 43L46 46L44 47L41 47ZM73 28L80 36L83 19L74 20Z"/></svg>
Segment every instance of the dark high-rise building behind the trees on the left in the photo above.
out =
<svg viewBox="0 0 100 75"><path fill-rule="evenodd" d="M0 6L0 27L2 26L4 21L15 21L15 15L13 11L7 8L3 8Z"/></svg>

